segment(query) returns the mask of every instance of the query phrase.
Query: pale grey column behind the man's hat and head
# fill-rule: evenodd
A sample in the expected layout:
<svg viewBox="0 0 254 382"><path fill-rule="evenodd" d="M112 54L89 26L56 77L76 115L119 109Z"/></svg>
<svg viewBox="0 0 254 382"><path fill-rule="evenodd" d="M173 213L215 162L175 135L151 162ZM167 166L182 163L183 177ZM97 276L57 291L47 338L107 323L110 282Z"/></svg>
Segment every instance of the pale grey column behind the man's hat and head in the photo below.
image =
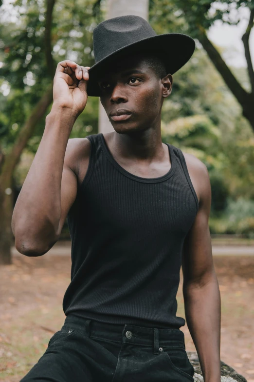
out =
<svg viewBox="0 0 254 382"><path fill-rule="evenodd" d="M135 15L148 19L148 0L108 0L106 20L117 16ZM99 99L99 133L114 131Z"/></svg>

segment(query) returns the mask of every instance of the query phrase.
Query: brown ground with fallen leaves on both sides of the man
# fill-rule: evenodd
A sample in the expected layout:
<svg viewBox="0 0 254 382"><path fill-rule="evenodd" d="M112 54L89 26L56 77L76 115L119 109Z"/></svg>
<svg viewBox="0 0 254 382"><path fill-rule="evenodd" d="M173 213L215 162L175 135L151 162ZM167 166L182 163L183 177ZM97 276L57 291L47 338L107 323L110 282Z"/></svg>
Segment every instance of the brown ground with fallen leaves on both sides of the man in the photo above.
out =
<svg viewBox="0 0 254 382"><path fill-rule="evenodd" d="M214 256L221 293L221 360L254 382L254 256ZM71 258L14 256L0 266L0 381L18 382L63 325ZM184 316L182 274L177 294ZM196 351L187 325L187 351Z"/></svg>

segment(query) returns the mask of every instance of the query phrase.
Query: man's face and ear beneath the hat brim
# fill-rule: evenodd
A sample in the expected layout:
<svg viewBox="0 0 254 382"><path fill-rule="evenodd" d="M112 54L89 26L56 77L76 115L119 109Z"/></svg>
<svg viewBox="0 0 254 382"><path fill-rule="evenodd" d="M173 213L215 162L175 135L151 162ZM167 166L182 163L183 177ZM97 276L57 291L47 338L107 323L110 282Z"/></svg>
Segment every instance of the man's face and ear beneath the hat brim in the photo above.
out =
<svg viewBox="0 0 254 382"><path fill-rule="evenodd" d="M172 76L158 79L139 55L118 60L99 80L100 100L117 133L130 133L160 124L163 99L172 90ZM114 116L118 112L118 116ZM112 113L112 114L111 114Z"/></svg>

